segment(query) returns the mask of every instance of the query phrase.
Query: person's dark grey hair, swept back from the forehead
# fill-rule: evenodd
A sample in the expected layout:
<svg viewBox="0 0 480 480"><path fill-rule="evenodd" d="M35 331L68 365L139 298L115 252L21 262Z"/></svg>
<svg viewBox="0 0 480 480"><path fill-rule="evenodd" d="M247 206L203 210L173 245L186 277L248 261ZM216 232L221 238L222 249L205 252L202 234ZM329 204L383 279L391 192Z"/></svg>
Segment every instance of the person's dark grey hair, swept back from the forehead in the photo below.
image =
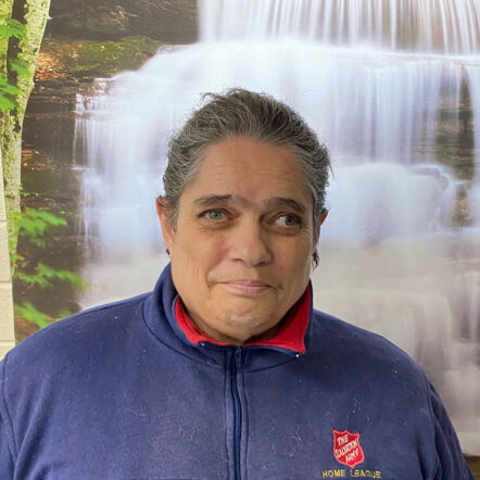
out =
<svg viewBox="0 0 480 480"><path fill-rule="evenodd" d="M328 149L305 121L273 97L241 88L230 89L225 94L205 93L202 100L207 101L193 112L169 141L162 202L172 209L172 227L176 227L180 195L194 179L205 150L218 141L241 136L286 147L294 154L312 190L314 225L317 225L326 211L325 197L331 166ZM316 243L317 228L314 231ZM316 250L313 262L315 266L318 264Z"/></svg>

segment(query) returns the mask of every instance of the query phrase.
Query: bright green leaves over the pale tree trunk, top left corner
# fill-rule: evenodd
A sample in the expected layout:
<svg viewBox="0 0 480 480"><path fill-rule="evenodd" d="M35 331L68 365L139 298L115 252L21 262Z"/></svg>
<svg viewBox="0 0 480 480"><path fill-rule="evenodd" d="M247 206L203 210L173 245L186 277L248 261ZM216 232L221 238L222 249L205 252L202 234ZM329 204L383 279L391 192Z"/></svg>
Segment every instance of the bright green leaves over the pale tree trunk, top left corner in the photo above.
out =
<svg viewBox="0 0 480 480"><path fill-rule="evenodd" d="M26 36L25 25L7 15L0 15L0 39L8 40L11 37L21 40ZM17 77L28 77L30 68L28 63L21 59L9 59L8 70L15 72ZM17 106L20 89L9 83L5 74L0 75L0 112L8 112Z"/></svg>

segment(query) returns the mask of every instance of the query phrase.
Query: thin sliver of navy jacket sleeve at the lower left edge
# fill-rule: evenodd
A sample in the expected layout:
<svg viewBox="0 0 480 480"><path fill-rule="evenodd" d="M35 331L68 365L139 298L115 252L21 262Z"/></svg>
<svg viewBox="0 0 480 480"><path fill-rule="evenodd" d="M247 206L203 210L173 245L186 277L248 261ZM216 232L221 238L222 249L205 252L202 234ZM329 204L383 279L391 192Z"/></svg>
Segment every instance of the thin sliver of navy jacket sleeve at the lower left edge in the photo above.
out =
<svg viewBox="0 0 480 480"><path fill-rule="evenodd" d="M0 478L10 480L14 476L15 462L13 429L4 394L5 364L7 358L0 362Z"/></svg>

